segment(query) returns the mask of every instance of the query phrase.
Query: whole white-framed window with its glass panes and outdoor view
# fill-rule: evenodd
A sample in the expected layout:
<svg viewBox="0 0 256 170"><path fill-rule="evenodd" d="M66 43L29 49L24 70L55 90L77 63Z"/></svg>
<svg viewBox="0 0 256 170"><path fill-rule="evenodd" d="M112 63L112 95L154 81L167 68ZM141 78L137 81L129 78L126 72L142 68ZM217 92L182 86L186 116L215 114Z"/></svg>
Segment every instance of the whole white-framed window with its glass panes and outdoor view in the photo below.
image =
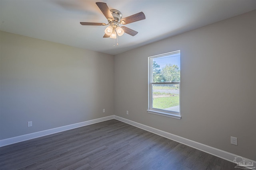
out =
<svg viewBox="0 0 256 170"><path fill-rule="evenodd" d="M148 113L180 119L180 51L148 57Z"/></svg>

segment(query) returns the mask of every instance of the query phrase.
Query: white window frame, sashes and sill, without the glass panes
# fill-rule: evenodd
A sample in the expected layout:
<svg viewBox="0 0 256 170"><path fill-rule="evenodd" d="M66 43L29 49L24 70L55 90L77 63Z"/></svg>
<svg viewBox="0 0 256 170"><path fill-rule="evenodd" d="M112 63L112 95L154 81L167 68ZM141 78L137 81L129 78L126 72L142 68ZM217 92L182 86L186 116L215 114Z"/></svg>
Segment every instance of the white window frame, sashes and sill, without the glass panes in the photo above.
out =
<svg viewBox="0 0 256 170"><path fill-rule="evenodd" d="M175 119L181 119L180 111L179 112L168 111L168 110L152 107L152 100L153 100L152 84L179 84L179 87L180 87L180 82L157 82L157 83L152 82L152 70L151 70L152 69L152 67L151 67L152 59L158 58L158 57L163 57L166 55L172 55L175 53L180 53L180 50L148 57L148 110L147 111L148 111L148 113L152 113L152 114L156 114L156 115L162 115L162 116L166 116L166 117L172 117ZM179 88L179 100L180 100L180 88Z"/></svg>

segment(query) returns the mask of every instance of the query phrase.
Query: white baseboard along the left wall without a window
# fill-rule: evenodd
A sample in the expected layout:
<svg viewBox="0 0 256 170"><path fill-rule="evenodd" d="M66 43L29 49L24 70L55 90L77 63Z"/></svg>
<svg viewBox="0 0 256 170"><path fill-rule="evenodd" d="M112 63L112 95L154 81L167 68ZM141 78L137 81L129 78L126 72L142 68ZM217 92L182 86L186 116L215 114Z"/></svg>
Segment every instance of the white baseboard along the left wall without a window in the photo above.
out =
<svg viewBox="0 0 256 170"><path fill-rule="evenodd" d="M70 129L75 129L75 128L86 126L86 125L91 125L94 123L99 123L102 121L107 121L110 119L114 119L114 115L107 116L107 117L101 117L98 119L93 119L93 120L88 120L88 121L83 121L80 123L74 123L74 124L66 125L66 126L62 126L62 127L56 127L53 129L47 129L47 130L39 131L39 132L35 132L35 133L29 133L29 134L21 135L21 136L17 136L17 137L2 139L2 140L0 140L0 147L6 146L6 145L11 145L11 144L22 142L22 141L27 141L30 139L34 139L34 138L38 138L38 137L42 137L42 136L46 136L46 135L51 135L51 134L62 132L62 131L67 131Z"/></svg>

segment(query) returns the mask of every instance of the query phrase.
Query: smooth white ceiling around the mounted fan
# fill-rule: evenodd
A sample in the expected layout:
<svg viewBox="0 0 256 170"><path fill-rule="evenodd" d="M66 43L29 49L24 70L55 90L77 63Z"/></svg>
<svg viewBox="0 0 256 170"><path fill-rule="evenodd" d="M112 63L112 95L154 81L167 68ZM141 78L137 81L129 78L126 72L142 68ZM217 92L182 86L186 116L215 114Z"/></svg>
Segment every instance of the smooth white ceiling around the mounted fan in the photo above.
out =
<svg viewBox="0 0 256 170"><path fill-rule="evenodd" d="M105 2L123 18L144 12L146 20L125 25L139 33L103 38L107 23L95 4ZM0 0L0 30L111 55L256 9L256 0Z"/></svg>

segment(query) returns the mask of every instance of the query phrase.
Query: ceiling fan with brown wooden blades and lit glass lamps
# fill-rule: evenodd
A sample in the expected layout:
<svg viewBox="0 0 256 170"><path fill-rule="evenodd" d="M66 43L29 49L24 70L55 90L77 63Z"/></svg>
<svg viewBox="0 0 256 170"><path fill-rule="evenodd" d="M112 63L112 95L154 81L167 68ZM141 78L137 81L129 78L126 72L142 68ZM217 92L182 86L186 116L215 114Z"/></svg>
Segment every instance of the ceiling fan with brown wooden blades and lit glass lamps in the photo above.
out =
<svg viewBox="0 0 256 170"><path fill-rule="evenodd" d="M105 29L105 35L104 38L114 38L116 39L117 35L122 36L124 33L127 33L129 35L136 35L138 32L134 31L133 29L130 29L128 27L122 26L120 27L119 24L128 24L140 20L146 19L143 12L139 12L137 14L134 14L132 16L128 16L126 18L122 18L122 13L118 10L110 10L106 3L104 2L96 2L97 6L100 8L101 12L104 14L104 16L107 18L108 23L94 23L94 22L80 22L81 25L109 25Z"/></svg>

